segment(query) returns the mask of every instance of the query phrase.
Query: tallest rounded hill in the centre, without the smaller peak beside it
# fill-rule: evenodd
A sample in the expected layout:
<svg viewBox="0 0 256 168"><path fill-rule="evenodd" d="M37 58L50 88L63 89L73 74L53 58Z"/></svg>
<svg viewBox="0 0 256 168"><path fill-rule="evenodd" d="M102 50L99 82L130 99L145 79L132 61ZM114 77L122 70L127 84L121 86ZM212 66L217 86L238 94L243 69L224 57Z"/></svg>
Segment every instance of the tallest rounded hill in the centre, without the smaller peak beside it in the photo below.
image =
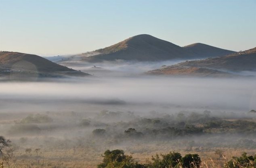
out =
<svg viewBox="0 0 256 168"><path fill-rule="evenodd" d="M191 55L182 47L151 35L136 35L113 46L95 50L100 54L89 60L139 60L155 61L182 58Z"/></svg>

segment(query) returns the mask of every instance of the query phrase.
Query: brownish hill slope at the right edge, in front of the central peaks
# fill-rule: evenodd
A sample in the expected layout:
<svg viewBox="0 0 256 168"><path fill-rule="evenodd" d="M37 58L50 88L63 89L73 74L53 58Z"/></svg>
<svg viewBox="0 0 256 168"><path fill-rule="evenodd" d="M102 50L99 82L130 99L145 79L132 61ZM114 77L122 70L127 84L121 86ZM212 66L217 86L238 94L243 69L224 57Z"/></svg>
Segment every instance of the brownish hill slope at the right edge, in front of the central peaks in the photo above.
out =
<svg viewBox="0 0 256 168"><path fill-rule="evenodd" d="M149 71L147 74L225 77L242 71L256 71L256 48L218 58L186 61L172 66L164 66Z"/></svg>

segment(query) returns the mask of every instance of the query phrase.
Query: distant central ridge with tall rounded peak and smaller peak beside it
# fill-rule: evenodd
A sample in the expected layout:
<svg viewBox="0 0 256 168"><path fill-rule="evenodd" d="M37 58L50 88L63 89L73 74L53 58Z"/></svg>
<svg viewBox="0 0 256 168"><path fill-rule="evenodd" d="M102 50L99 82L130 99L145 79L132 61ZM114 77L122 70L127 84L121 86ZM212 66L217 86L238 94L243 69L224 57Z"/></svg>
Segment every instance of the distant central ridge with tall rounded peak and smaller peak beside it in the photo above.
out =
<svg viewBox="0 0 256 168"><path fill-rule="evenodd" d="M151 35L141 34L93 52L61 58L59 62L77 61L79 58L88 62L101 62L104 60L159 61L208 58L232 53L235 52L199 43L180 47Z"/></svg>

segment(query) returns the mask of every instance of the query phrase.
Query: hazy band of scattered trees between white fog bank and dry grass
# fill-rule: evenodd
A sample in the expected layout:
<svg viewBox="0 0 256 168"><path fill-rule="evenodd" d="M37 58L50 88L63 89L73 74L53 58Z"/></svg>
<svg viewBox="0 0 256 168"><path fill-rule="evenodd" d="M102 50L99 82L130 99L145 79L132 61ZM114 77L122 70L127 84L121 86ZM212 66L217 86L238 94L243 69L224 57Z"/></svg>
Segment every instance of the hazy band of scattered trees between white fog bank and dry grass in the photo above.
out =
<svg viewBox="0 0 256 168"><path fill-rule="evenodd" d="M52 116L51 116L52 115ZM58 115L61 119L57 120ZM52 122L45 123L15 123L6 127L6 135L21 136L17 140L20 145L26 145L33 142L39 145L50 148L65 147L73 148L82 146L97 146L97 145L118 145L130 141L148 142L148 141L175 141L178 139L188 140L185 144L178 143L186 147L187 151L193 147L240 147L246 149L256 148L256 122L247 118L219 118L212 116L211 112L187 112L181 111L176 114L160 114L151 112L149 116L138 116L133 112L109 112L104 110L94 117L82 116L82 114L72 115L66 114L51 114L49 118L54 118ZM35 118L34 115L32 118ZM38 115L39 116L39 115ZM44 118L43 114L40 117ZM122 120L126 118L127 120ZM30 118L30 117L25 117ZM25 119L24 118L24 119ZM84 119L81 119L84 118ZM107 118L107 119L106 119ZM109 118L115 118L113 122ZM68 119L68 120L67 120ZM27 119L26 119L27 120ZM30 119L29 119L30 120ZM34 119L32 119L34 120ZM28 120L27 120L28 121ZM70 132L70 130L74 130ZM73 139L67 137L52 137L53 132L71 133ZM46 137L40 140L31 140L27 135L38 136L44 133ZM219 140L204 140L200 142L192 141L193 137L218 137L223 135L239 136L236 139ZM47 135L50 135L47 137ZM204 136L205 135L205 136ZM246 135L246 136L245 136ZM215 150L215 149L214 149Z"/></svg>

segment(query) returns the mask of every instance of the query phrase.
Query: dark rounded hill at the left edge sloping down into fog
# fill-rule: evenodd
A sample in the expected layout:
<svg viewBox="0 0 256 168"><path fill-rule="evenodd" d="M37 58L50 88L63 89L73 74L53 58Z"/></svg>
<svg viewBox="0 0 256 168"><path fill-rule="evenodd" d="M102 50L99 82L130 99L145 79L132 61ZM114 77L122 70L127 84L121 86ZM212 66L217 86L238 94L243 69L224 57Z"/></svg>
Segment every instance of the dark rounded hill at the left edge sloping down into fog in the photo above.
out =
<svg viewBox="0 0 256 168"><path fill-rule="evenodd" d="M20 52L0 52L0 75L55 77L89 75L61 66L37 55Z"/></svg>

